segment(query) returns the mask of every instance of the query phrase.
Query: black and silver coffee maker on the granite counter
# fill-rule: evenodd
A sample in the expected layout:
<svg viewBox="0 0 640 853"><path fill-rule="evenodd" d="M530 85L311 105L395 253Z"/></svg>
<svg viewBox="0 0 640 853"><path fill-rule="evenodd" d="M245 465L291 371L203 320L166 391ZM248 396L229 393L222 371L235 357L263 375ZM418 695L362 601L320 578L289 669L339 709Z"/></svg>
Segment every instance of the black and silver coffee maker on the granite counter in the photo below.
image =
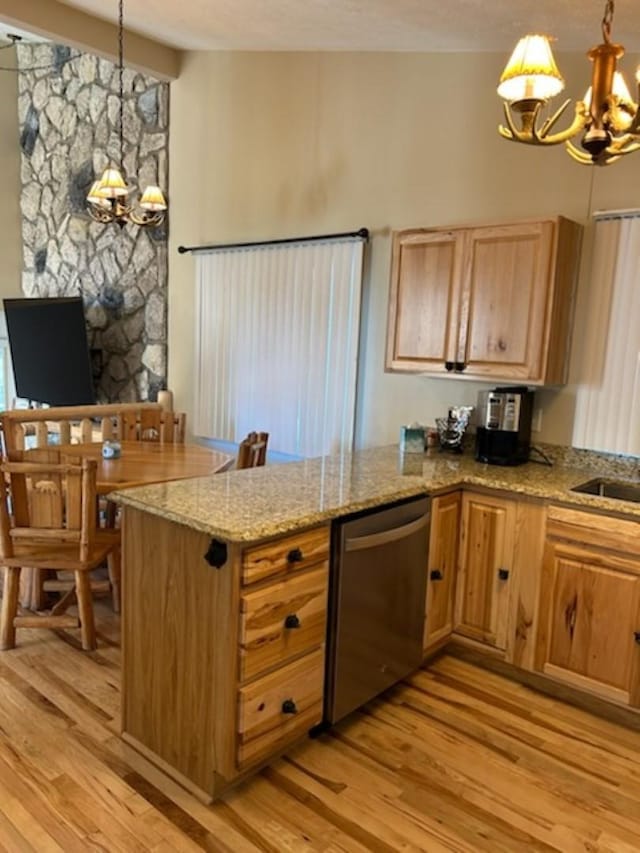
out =
<svg viewBox="0 0 640 853"><path fill-rule="evenodd" d="M490 465L529 461L533 391L522 386L478 394L476 459Z"/></svg>

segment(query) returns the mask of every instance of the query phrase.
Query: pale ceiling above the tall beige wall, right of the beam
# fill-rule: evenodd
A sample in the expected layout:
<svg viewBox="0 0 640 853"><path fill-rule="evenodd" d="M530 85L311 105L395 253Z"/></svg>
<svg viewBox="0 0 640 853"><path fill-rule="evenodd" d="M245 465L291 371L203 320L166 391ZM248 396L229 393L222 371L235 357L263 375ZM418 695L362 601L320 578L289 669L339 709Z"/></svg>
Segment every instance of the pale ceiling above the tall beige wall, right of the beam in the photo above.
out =
<svg viewBox="0 0 640 853"><path fill-rule="evenodd" d="M111 22L117 0L61 0ZM637 0L613 40L640 52ZM545 32L558 51L602 41L604 0L126 0L125 27L185 50L510 51Z"/></svg>

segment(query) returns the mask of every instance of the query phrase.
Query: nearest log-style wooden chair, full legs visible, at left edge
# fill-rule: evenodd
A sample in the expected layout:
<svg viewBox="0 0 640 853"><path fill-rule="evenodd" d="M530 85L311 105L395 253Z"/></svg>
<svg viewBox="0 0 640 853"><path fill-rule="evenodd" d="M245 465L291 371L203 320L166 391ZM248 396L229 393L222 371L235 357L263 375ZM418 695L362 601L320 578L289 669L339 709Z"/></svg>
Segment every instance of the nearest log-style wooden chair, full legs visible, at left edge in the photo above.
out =
<svg viewBox="0 0 640 853"><path fill-rule="evenodd" d="M56 451L37 452L48 454L49 461L0 465L0 565L4 567L0 648L14 648L16 628L79 627L82 648L89 651L96 648L89 573L106 561L114 599L119 596L120 532L97 527L95 460L61 464ZM14 456L21 454L14 452ZM18 613L23 567L72 573L70 583L51 583L50 588L62 597L49 614ZM77 617L67 614L74 603Z"/></svg>

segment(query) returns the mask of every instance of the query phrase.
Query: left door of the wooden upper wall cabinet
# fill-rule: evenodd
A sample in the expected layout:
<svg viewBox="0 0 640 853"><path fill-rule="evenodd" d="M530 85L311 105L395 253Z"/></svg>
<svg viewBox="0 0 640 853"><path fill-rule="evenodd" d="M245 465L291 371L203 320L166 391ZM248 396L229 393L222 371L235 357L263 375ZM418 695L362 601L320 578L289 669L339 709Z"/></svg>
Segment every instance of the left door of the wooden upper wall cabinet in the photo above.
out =
<svg viewBox="0 0 640 853"><path fill-rule="evenodd" d="M453 369L463 241L463 231L394 234L387 368Z"/></svg>

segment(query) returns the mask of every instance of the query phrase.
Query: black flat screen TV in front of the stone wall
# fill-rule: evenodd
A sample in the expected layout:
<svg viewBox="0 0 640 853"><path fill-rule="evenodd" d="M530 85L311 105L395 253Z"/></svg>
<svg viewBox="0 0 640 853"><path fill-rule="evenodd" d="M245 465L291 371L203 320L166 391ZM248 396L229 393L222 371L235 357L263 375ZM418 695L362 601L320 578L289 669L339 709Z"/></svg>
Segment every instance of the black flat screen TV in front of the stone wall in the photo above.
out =
<svg viewBox="0 0 640 853"><path fill-rule="evenodd" d="M82 298L3 302L18 396L50 406L95 403Z"/></svg>

